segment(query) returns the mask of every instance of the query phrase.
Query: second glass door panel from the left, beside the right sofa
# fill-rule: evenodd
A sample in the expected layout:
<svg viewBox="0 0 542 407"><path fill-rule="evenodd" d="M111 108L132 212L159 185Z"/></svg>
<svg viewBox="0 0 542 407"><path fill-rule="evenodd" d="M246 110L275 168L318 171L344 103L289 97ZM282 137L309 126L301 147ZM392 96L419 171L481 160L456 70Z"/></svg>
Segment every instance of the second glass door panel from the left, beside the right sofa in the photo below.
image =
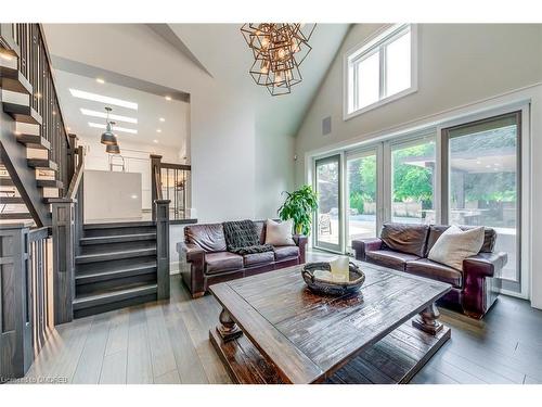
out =
<svg viewBox="0 0 542 407"><path fill-rule="evenodd" d="M347 246L352 239L375 238L377 224L376 149L347 158Z"/></svg>

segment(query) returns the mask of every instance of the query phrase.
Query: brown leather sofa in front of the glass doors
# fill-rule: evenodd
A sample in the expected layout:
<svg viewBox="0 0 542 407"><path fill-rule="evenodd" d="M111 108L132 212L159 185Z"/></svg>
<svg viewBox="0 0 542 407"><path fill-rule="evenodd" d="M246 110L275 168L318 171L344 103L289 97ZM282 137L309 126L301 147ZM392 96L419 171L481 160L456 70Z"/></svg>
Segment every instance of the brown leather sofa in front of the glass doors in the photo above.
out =
<svg viewBox="0 0 542 407"><path fill-rule="evenodd" d="M485 228L480 252L463 262L463 270L431 262L427 255L448 228L449 226L443 225L385 224L380 238L352 240L352 249L359 260L452 284L452 290L439 304L459 307L469 317L480 319L499 295L499 277L507 262L507 255L493 253L496 232Z"/></svg>

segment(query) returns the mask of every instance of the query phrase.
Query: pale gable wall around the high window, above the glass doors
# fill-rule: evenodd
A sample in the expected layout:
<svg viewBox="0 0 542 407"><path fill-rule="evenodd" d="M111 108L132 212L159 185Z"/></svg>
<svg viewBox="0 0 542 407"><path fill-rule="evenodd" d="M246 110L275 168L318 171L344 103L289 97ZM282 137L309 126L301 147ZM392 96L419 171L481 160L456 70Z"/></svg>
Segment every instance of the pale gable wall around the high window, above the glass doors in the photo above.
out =
<svg viewBox="0 0 542 407"><path fill-rule="evenodd" d="M333 62L296 139L296 182L304 155L328 145L361 141L372 133L519 89L542 80L542 25L418 25L418 91L349 120L343 119L343 56L382 25L354 25ZM332 116L332 133L322 119Z"/></svg>

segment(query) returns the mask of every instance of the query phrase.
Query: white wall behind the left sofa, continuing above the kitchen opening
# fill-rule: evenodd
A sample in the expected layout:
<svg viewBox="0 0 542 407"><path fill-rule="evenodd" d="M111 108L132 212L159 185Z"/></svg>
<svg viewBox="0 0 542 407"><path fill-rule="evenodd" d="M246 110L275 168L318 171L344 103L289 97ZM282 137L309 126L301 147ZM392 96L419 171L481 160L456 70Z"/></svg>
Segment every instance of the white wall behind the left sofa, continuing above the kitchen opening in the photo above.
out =
<svg viewBox="0 0 542 407"><path fill-rule="evenodd" d="M260 171L266 177L292 173L281 157L292 144L255 160L257 135L250 98L228 82L217 81L165 42L145 25L46 25L51 53L191 94L192 206L199 221L273 216L257 199ZM81 46L85 44L85 46ZM271 135L275 140L289 136ZM280 160L276 160L280 157ZM275 173L276 169L276 173ZM280 181L269 182L279 196ZM279 200L278 200L279 201ZM269 208L275 205L269 205Z"/></svg>

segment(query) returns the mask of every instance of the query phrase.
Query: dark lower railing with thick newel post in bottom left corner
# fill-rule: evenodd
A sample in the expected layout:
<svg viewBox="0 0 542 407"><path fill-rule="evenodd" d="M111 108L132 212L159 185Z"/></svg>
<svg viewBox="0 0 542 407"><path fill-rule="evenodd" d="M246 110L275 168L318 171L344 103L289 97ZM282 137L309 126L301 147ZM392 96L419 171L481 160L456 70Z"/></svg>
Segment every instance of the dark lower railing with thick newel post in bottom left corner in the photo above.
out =
<svg viewBox="0 0 542 407"><path fill-rule="evenodd" d="M10 225L0 229L0 382L26 373L53 328L50 251L47 227Z"/></svg>

